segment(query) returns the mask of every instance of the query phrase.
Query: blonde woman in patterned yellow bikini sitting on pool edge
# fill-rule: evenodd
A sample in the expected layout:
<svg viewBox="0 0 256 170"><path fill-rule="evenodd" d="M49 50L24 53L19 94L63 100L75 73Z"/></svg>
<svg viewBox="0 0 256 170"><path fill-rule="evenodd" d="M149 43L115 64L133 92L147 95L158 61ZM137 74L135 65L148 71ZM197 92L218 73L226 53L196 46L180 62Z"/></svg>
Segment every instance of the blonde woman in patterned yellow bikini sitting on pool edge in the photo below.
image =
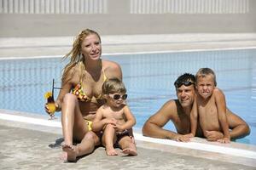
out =
<svg viewBox="0 0 256 170"><path fill-rule="evenodd" d="M72 50L65 56L70 57L70 62L64 69L55 106L56 111L61 111L64 137L61 145L67 161L77 161L78 156L90 154L101 143L101 133L91 131L91 122L104 104L102 84L111 77L122 80L120 66L101 56L101 38L90 29L79 33ZM49 112L47 105L45 108ZM73 145L73 139L80 143Z"/></svg>

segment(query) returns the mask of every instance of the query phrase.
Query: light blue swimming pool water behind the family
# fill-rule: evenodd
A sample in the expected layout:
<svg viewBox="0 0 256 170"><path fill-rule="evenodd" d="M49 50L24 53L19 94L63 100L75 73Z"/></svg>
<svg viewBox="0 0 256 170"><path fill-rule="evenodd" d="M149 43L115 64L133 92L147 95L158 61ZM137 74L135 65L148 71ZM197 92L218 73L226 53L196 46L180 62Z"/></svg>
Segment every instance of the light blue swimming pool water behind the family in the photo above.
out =
<svg viewBox="0 0 256 170"><path fill-rule="evenodd" d="M122 67L128 104L143 127L149 116L168 99L176 99L173 82L184 72L201 67L212 68L218 88L224 90L227 105L251 127L251 134L238 142L256 144L256 49L182 52L162 54L104 55ZM61 83L61 70L67 61L61 58L1 59L0 108L44 113L44 93ZM55 90L55 97L58 90ZM56 116L60 116L57 113ZM172 123L166 128L174 129Z"/></svg>

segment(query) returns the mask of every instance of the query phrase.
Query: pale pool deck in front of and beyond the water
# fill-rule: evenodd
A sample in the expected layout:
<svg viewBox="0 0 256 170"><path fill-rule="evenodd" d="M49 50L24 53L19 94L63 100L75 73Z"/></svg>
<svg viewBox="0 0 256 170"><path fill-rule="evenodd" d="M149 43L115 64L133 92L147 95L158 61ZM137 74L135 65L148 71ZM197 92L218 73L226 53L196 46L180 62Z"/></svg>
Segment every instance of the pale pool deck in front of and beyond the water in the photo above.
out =
<svg viewBox="0 0 256 170"><path fill-rule="evenodd" d="M64 55L73 37L0 38L0 58ZM102 36L103 54L256 48L256 34ZM1 60L0 60L1 62ZM255 169L256 146L205 139L179 143L135 132L138 156L106 156L102 147L77 163L63 163L60 119L0 110L1 169Z"/></svg>

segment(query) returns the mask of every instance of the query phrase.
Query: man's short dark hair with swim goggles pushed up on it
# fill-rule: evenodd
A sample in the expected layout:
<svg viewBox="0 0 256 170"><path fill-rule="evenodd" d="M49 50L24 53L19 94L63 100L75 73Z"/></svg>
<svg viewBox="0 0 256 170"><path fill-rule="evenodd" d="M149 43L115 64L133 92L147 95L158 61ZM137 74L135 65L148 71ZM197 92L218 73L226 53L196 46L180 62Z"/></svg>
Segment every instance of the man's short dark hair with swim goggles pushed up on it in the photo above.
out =
<svg viewBox="0 0 256 170"><path fill-rule="evenodd" d="M182 85L190 86L191 84L195 85L195 76L190 73L184 73L183 75L177 77L177 80L174 82L175 88L179 88Z"/></svg>

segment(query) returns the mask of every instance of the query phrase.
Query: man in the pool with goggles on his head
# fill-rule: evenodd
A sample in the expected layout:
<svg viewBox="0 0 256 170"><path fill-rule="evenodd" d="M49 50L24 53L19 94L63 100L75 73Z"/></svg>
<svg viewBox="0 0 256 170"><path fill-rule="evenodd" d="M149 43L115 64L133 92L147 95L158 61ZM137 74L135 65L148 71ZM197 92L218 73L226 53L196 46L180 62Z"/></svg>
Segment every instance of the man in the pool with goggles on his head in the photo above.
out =
<svg viewBox="0 0 256 170"><path fill-rule="evenodd" d="M195 76L185 73L178 77L174 83L177 99L170 99L159 111L148 118L144 123L143 135L160 139L173 139L188 142L190 133L190 111L195 97ZM238 139L250 133L250 128L241 117L236 116L229 109L226 111L227 121L230 127L231 139ZM164 129L167 122L172 121L177 133ZM200 124L200 123L198 123ZM207 131L205 136L201 132L200 125L197 126L196 137L205 137L209 141L222 139L224 134L219 131Z"/></svg>

